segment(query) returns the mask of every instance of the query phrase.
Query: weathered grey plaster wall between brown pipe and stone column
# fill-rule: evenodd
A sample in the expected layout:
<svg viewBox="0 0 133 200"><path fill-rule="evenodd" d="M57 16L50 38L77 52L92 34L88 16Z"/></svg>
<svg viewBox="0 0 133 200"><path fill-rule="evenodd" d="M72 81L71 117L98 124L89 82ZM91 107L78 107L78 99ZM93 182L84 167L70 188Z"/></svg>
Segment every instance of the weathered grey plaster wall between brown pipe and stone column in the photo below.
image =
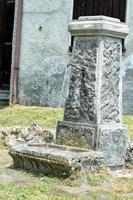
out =
<svg viewBox="0 0 133 200"><path fill-rule="evenodd" d="M72 9L72 0L24 0L18 82L20 104L61 105ZM65 90L64 87L66 94ZM65 95L62 105L64 100Z"/></svg>

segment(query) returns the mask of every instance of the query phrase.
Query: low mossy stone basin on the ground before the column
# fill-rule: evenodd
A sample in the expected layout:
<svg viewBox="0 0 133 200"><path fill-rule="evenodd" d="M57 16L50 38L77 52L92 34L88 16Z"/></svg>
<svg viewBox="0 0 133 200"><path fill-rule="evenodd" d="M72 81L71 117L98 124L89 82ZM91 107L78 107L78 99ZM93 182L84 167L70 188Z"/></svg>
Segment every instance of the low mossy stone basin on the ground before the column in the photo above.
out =
<svg viewBox="0 0 133 200"><path fill-rule="evenodd" d="M9 155L15 168L58 177L82 169L98 171L103 164L101 152L56 144L19 144L9 150Z"/></svg>

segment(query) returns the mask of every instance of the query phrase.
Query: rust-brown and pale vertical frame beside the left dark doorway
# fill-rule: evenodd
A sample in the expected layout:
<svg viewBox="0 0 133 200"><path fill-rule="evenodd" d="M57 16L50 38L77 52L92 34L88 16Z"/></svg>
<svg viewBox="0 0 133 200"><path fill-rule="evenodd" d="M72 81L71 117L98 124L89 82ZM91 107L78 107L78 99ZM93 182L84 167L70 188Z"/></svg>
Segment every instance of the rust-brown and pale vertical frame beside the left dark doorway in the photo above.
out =
<svg viewBox="0 0 133 200"><path fill-rule="evenodd" d="M12 41L12 62L11 62L11 81L10 81L9 104L15 104L18 102L18 75L19 75L22 13L23 13L23 0L16 0L15 1L13 41Z"/></svg>

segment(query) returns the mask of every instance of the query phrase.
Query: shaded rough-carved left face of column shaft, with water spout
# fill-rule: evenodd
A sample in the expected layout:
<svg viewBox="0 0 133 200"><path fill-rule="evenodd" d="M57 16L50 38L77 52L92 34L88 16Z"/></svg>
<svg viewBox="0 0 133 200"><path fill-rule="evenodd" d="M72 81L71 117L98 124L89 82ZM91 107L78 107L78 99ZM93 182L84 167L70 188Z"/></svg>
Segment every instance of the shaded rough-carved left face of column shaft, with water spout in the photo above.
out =
<svg viewBox="0 0 133 200"><path fill-rule="evenodd" d="M96 65L99 39L75 39L69 96L65 105L65 121L96 122Z"/></svg>

